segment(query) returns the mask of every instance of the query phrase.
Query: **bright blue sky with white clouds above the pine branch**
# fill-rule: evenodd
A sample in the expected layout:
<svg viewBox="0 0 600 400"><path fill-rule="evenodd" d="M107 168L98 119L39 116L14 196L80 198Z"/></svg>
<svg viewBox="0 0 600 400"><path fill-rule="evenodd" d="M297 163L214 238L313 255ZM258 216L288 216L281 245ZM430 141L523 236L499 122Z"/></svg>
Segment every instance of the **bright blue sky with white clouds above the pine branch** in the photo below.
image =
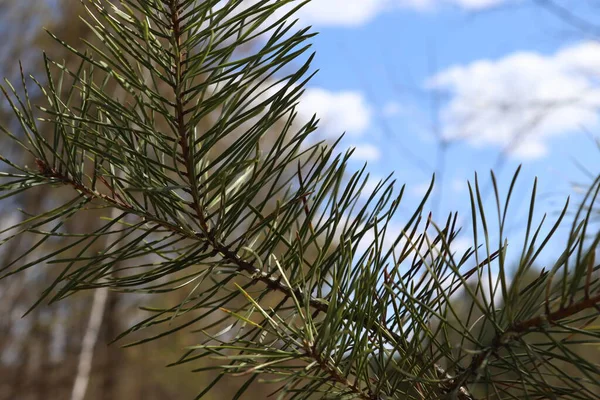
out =
<svg viewBox="0 0 600 400"><path fill-rule="evenodd" d="M556 1L577 17L594 11L592 1ZM489 170L505 195L522 164L509 232L519 243L534 178L536 215L552 216L574 193L573 182L589 182L577 162L596 173L600 154L593 141L600 127L597 36L537 3L313 0L300 20L320 33L320 72L301 107L320 116L321 135L347 132L356 167L368 161L377 177L395 171L407 184L408 206L442 169L440 197L431 204L440 220L459 211L470 224L466 182L475 172L494 217ZM448 143L443 161L439 138ZM469 237L459 247L471 245Z"/></svg>

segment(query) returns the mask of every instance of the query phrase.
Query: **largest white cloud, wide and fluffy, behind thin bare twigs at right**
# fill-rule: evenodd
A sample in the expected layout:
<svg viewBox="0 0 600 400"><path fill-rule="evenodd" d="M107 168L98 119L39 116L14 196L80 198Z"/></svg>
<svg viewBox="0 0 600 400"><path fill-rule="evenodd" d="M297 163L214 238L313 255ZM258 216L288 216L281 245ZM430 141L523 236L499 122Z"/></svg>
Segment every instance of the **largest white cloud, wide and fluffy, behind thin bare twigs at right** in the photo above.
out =
<svg viewBox="0 0 600 400"><path fill-rule="evenodd" d="M444 135L496 146L520 159L548 153L548 140L599 122L600 44L554 55L518 52L451 67L427 82L447 90Z"/></svg>

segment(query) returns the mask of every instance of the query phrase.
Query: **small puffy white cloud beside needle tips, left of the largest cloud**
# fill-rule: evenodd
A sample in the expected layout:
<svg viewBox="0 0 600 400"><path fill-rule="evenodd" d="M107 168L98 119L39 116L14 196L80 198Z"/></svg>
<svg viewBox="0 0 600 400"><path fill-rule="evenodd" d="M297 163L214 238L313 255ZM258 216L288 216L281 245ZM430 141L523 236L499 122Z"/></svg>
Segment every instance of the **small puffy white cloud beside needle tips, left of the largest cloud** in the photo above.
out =
<svg viewBox="0 0 600 400"><path fill-rule="evenodd" d="M298 105L305 117L317 114L319 127L326 137L338 137L343 132L361 136L371 124L372 110L360 92L331 92L321 88L309 88Z"/></svg>

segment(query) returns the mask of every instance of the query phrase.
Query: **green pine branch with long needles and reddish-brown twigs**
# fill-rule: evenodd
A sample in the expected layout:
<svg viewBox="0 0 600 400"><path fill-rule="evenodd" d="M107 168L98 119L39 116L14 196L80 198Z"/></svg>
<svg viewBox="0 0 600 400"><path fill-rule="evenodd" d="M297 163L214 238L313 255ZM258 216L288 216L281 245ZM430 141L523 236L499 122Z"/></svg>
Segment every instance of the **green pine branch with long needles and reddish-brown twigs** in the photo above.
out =
<svg viewBox="0 0 600 400"><path fill-rule="evenodd" d="M0 156L2 198L47 196L1 242L36 238L0 278L54 273L31 310L102 288L146 296L160 306L119 339L198 332L172 365L218 371L199 397L225 375L244 380L234 398L255 381L282 398L599 397L595 359L573 350L598 345L598 180L555 264L531 279L568 210L550 229L534 223L534 185L509 285L504 227L518 172L506 196L491 176L495 239L477 180L465 254L452 251L457 215L426 215L431 187L392 236L404 187L390 176L365 199L368 174L348 172L351 151L312 141L316 117L296 112L313 59L313 33L293 20L302 3L86 5L101 45L83 52L53 36L79 63L45 56L34 88L24 74L19 90L2 88L19 121L2 131L30 157ZM33 91L45 101L32 104ZM100 225L76 223L90 215ZM178 304L165 304L171 292Z"/></svg>

